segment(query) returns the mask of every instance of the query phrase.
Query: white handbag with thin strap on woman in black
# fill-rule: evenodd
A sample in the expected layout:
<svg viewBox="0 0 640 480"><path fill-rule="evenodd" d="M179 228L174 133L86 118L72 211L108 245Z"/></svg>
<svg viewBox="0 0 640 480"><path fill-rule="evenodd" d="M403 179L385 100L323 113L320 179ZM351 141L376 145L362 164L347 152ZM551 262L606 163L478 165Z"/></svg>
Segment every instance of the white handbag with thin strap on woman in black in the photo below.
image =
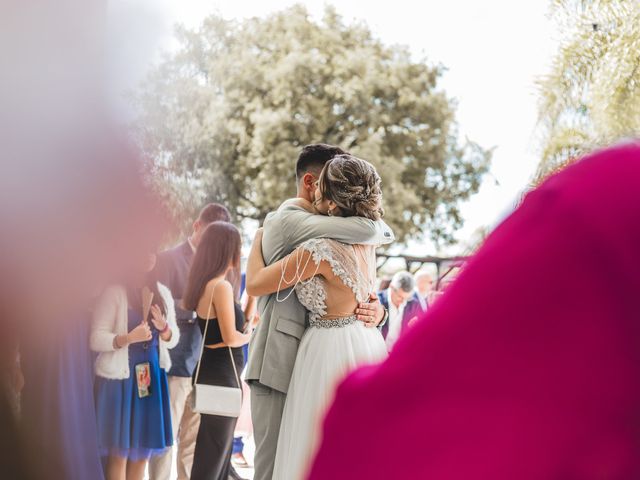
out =
<svg viewBox="0 0 640 480"><path fill-rule="evenodd" d="M229 350L229 358L233 366L233 372L236 376L237 387L223 387L220 385L205 385L198 383L200 367L202 366L202 354L204 352L204 341L207 337L207 328L209 328L209 317L211 316L211 304L213 303L213 292L209 301L209 311L207 312L207 323L204 327L202 335L202 345L200 347L200 360L196 369L193 391L191 392L191 408L194 412L204 413L206 415L219 415L221 417L238 417L242 408L242 387L240 386L240 377L236 369L236 362L233 361L233 353L231 347Z"/></svg>

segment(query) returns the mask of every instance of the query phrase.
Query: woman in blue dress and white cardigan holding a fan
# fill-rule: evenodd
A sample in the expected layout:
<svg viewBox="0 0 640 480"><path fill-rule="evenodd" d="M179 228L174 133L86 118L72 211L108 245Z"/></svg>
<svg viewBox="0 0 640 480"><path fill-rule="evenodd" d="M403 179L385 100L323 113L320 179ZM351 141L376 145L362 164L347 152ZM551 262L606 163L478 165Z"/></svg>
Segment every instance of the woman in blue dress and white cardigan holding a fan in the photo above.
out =
<svg viewBox="0 0 640 480"><path fill-rule="evenodd" d="M146 273L107 288L94 311L98 442L107 480L142 480L149 458L173 443L166 371L178 343L173 299Z"/></svg>

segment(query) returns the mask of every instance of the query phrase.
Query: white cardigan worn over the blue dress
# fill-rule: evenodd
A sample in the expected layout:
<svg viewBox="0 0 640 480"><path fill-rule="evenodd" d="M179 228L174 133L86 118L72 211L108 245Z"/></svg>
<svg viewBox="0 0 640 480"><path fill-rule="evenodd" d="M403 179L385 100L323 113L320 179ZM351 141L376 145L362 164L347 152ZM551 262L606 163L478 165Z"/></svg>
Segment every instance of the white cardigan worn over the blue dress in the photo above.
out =
<svg viewBox="0 0 640 480"><path fill-rule="evenodd" d="M168 342L159 339L160 368L168 371L171 368L169 349L178 344L180 330L176 324L176 310L171 292L160 282L158 282L158 291L164 300L167 310L166 318L171 329L171 338ZM93 312L89 343L91 350L99 353L95 363L95 372L99 377L124 379L131 375L129 371L129 346L119 349L113 347L113 339L116 335L128 333L127 309L127 291L123 286L117 285L105 289Z"/></svg>

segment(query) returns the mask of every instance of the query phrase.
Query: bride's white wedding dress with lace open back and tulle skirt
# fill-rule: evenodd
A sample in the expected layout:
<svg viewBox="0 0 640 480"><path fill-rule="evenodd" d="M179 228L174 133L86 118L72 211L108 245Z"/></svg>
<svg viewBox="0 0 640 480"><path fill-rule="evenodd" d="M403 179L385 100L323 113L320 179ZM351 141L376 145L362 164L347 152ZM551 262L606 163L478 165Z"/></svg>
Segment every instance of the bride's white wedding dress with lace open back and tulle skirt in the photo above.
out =
<svg viewBox="0 0 640 480"><path fill-rule="evenodd" d="M380 331L366 327L352 313L354 305L366 302L374 291L374 247L314 239L302 248L315 263L326 261L334 277L315 276L295 287L309 310L309 328L300 342L289 384L273 480L306 478L336 387L356 367L387 355Z"/></svg>

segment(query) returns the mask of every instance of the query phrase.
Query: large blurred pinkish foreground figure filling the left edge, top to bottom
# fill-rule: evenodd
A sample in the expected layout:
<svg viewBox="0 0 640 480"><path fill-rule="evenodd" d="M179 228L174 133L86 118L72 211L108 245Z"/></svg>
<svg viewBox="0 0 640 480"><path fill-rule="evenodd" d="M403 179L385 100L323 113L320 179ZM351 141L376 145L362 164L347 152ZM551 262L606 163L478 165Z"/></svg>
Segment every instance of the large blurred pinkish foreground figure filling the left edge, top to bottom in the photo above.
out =
<svg viewBox="0 0 640 480"><path fill-rule="evenodd" d="M19 424L0 395L3 478L101 478L87 312L167 227L112 117L106 11L0 6L0 362L18 345L24 373Z"/></svg>

